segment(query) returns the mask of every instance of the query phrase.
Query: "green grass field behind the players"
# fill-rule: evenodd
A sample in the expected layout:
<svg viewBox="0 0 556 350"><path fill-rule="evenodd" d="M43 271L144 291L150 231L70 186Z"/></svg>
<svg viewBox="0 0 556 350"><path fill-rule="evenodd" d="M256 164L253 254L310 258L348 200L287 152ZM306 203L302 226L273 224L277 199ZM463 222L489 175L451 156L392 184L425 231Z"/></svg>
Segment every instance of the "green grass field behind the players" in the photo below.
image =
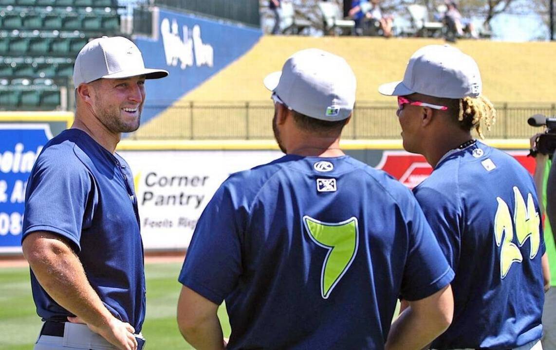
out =
<svg viewBox="0 0 556 350"><path fill-rule="evenodd" d="M147 317L143 335L156 349L192 349L177 329L176 305L181 263L147 264ZM230 325L224 306L219 308L224 336ZM41 320L31 296L28 268L0 268L0 350L28 350L37 339ZM156 344L156 347L152 345Z"/></svg>

